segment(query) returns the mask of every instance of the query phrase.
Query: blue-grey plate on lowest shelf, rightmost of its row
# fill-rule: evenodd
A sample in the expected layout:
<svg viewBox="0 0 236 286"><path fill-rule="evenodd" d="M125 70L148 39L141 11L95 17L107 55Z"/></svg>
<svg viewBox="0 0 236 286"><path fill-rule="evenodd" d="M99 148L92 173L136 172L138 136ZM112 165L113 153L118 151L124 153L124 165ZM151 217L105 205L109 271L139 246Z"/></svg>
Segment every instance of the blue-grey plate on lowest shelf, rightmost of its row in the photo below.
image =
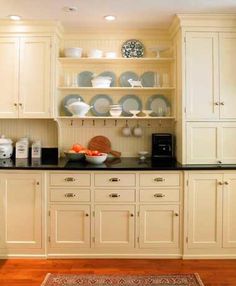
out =
<svg viewBox="0 0 236 286"><path fill-rule="evenodd" d="M155 94L148 98L146 109L153 111L150 116L166 116L170 109L170 103L165 96Z"/></svg>

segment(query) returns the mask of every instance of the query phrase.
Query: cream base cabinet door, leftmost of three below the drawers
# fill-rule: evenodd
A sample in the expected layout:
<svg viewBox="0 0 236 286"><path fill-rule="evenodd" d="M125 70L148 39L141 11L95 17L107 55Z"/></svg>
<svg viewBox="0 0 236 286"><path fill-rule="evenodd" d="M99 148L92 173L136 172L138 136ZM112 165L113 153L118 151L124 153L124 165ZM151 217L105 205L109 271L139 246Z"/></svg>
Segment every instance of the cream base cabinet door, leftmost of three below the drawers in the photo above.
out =
<svg viewBox="0 0 236 286"><path fill-rule="evenodd" d="M51 247L90 247L90 207L88 205L52 205L50 211Z"/></svg>

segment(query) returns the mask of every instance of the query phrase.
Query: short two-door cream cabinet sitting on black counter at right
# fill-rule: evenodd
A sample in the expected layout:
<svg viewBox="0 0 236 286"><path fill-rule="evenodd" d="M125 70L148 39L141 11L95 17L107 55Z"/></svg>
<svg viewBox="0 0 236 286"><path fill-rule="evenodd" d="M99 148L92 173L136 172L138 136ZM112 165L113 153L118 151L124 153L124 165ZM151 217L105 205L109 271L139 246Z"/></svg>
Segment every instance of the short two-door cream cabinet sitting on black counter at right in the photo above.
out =
<svg viewBox="0 0 236 286"><path fill-rule="evenodd" d="M235 122L187 122L187 164L234 164Z"/></svg>

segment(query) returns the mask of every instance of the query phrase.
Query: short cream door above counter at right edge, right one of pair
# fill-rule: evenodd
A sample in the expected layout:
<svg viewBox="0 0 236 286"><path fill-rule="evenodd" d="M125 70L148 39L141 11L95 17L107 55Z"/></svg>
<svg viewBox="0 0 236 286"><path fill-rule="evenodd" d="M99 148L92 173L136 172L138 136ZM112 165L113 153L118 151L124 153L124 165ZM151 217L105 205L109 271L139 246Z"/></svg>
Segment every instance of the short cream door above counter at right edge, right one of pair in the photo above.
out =
<svg viewBox="0 0 236 286"><path fill-rule="evenodd" d="M219 158L223 164L236 163L236 123L219 123Z"/></svg>

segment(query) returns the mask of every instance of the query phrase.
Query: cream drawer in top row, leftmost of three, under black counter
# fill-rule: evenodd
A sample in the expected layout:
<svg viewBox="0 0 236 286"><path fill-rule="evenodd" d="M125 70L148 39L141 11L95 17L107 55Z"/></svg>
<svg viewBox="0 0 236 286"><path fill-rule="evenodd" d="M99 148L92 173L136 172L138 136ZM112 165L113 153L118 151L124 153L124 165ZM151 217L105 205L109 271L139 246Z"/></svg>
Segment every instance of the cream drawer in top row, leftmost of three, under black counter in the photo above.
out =
<svg viewBox="0 0 236 286"><path fill-rule="evenodd" d="M77 186L89 187L90 174L66 173L66 174L50 174L51 186Z"/></svg>

